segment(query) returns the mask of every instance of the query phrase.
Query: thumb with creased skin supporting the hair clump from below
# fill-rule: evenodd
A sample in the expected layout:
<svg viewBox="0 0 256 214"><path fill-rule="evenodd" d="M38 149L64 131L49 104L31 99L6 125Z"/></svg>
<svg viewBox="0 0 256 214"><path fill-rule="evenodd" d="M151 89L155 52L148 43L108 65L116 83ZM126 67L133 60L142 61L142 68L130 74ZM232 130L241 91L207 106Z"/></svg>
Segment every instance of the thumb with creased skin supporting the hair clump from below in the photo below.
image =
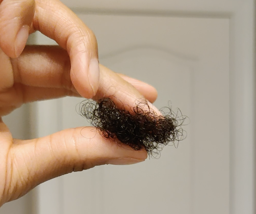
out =
<svg viewBox="0 0 256 214"><path fill-rule="evenodd" d="M54 177L96 165L141 162L147 152L106 140L94 127L79 127L39 139L14 141L8 157L11 164L7 164L5 190L11 195L4 197L6 202Z"/></svg>

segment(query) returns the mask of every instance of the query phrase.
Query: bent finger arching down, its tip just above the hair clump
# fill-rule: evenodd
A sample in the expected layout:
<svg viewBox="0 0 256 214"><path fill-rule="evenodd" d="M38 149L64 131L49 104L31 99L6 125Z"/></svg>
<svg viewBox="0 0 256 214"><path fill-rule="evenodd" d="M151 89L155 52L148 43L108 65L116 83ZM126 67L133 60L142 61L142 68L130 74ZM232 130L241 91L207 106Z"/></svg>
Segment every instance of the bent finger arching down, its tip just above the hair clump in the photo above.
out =
<svg viewBox="0 0 256 214"><path fill-rule="evenodd" d="M33 27L67 50L73 85L81 96L92 98L98 90L100 74L93 32L58 0L36 0Z"/></svg>

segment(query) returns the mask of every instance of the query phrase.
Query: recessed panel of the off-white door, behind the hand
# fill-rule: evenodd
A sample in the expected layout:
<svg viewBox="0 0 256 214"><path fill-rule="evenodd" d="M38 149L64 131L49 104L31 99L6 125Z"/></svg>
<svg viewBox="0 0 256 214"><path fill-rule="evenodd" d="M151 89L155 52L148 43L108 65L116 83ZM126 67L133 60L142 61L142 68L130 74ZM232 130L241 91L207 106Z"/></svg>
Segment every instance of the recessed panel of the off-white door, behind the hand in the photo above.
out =
<svg viewBox="0 0 256 214"><path fill-rule="evenodd" d="M158 108L190 118L178 149L129 166L65 175L63 213L229 213L229 20L79 15L100 62L152 84ZM64 98L63 128L88 125Z"/></svg>

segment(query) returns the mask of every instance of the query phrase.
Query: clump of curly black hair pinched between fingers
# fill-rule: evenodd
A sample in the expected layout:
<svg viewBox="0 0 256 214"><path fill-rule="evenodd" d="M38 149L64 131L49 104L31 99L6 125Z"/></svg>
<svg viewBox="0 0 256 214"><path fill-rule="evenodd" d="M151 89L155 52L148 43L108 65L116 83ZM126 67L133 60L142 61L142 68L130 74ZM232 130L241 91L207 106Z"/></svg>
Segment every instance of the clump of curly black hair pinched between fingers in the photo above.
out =
<svg viewBox="0 0 256 214"><path fill-rule="evenodd" d="M146 102L139 102L128 111L117 107L110 98L103 98L83 101L79 113L98 129L101 136L114 141L117 139L134 150L145 148L153 156L160 155L164 145L175 145L184 139L181 126L186 116L179 110L180 116L170 107L167 109L168 113L163 112L159 116L150 110Z"/></svg>

